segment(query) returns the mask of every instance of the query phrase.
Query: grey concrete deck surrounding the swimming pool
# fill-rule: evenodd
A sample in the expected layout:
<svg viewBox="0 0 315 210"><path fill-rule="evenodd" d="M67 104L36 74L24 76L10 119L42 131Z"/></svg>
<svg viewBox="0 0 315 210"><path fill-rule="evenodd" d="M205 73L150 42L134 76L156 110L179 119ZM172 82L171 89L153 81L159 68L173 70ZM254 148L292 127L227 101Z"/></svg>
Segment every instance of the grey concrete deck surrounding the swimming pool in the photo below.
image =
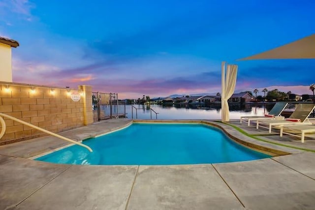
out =
<svg viewBox="0 0 315 210"><path fill-rule="evenodd" d="M315 209L314 152L258 141L229 125L203 121L220 126L228 135L247 142L249 146L292 154L222 164L62 165L29 159L67 145L67 142L55 137L40 137L0 146L0 209ZM59 134L80 141L124 127L131 122L127 119L105 120ZM302 144L292 136L280 138L276 132L262 135L268 131L240 125L238 120L230 123L263 140L311 150L315 148L315 138L307 138Z"/></svg>

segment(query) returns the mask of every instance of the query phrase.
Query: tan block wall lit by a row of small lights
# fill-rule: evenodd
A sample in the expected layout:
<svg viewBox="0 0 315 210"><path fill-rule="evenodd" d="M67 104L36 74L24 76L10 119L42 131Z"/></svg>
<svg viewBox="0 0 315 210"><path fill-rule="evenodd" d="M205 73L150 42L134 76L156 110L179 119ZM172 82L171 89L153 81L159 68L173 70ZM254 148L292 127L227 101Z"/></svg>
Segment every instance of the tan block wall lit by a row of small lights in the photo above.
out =
<svg viewBox="0 0 315 210"><path fill-rule="evenodd" d="M71 99L74 91L81 93L77 102ZM91 103L86 101L90 97ZM90 109L85 107L88 103ZM0 86L1 113L56 133L92 123L93 119L85 119L92 115L91 107L92 87L89 86L80 86L78 90L19 83L1 83ZM19 122L4 120L6 131L0 145L47 135Z"/></svg>

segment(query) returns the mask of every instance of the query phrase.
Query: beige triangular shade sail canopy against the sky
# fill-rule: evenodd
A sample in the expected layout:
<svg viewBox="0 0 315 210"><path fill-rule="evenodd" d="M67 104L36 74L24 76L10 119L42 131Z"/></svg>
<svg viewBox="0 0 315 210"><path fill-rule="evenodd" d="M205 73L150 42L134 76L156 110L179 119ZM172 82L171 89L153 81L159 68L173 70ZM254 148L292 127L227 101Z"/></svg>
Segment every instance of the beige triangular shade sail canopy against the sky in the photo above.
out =
<svg viewBox="0 0 315 210"><path fill-rule="evenodd" d="M239 60L315 59L315 34Z"/></svg>

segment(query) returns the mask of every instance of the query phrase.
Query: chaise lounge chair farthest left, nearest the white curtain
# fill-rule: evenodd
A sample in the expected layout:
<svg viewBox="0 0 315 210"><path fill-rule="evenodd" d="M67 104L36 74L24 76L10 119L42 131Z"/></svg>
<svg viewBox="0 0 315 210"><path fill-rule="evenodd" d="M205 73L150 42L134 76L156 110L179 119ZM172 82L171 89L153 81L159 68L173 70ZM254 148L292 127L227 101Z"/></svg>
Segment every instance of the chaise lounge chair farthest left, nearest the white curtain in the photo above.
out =
<svg viewBox="0 0 315 210"><path fill-rule="evenodd" d="M277 102L274 107L270 110L270 112L267 115L264 116L243 116L241 117L240 123L242 124L242 121L248 122L248 126L250 126L251 121L256 120L274 120L276 116L280 116L281 113L284 111L284 108L286 107L286 102Z"/></svg>

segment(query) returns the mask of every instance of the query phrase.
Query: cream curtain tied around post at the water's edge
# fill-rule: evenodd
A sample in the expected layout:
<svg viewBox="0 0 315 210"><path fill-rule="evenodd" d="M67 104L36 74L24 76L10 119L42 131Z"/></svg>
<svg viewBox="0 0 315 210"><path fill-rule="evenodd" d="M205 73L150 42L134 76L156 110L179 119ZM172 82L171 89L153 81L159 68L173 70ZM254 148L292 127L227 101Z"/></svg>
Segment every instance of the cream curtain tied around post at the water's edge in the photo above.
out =
<svg viewBox="0 0 315 210"><path fill-rule="evenodd" d="M225 65L222 62L221 118L222 122L230 120L227 100L232 96L236 86L237 65Z"/></svg>

